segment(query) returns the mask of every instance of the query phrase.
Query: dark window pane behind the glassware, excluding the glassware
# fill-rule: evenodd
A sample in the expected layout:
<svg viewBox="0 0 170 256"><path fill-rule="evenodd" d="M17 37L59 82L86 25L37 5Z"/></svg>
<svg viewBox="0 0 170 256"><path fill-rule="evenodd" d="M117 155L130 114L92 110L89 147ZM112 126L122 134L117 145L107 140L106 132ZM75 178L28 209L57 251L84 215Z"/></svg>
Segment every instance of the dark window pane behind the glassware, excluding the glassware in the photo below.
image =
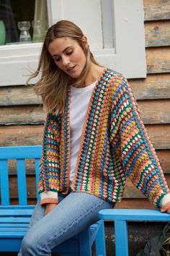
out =
<svg viewBox="0 0 170 256"><path fill-rule="evenodd" d="M46 0L0 0L0 20L2 20L5 25L6 43L19 42L21 31L18 28L18 22L30 22L30 29L27 30L28 35L30 33L30 40L33 38L33 20L43 19L42 21L45 21L45 30L47 30L47 13Z"/></svg>

